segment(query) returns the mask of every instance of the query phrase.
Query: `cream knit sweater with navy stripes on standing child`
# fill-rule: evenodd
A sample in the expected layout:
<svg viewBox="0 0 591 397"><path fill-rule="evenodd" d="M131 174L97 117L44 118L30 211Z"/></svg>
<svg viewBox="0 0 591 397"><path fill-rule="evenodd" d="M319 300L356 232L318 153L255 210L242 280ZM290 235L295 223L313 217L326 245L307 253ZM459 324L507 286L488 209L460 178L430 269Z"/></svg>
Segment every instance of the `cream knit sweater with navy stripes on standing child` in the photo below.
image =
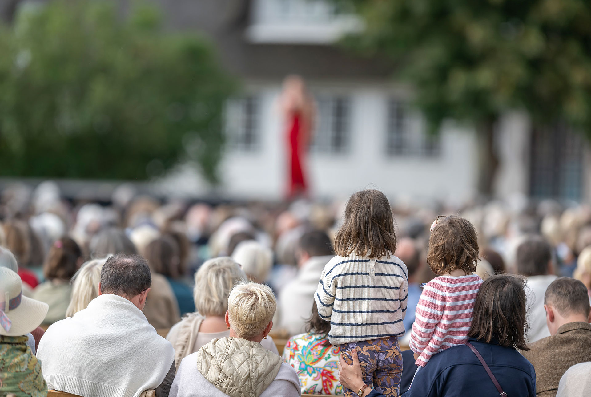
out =
<svg viewBox="0 0 591 397"><path fill-rule="evenodd" d="M407 297L408 270L400 259L351 255L326 264L314 299L337 346L404 335Z"/></svg>

